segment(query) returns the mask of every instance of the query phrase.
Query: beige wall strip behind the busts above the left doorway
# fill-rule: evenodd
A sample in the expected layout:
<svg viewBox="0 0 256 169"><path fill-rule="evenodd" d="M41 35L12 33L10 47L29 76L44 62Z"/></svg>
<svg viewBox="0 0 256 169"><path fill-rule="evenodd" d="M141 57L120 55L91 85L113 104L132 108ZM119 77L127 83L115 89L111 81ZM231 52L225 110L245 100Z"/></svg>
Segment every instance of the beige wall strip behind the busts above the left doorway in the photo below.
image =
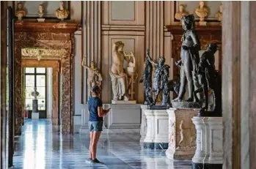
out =
<svg viewBox="0 0 256 169"><path fill-rule="evenodd" d="M43 18L56 19L55 12L59 8L59 1L13 1L15 11L17 10L17 4L19 2L23 4L23 9L26 10L26 17L23 18L39 18L38 6L43 4ZM65 8L70 11L70 1L64 1L64 4ZM70 20L70 15L67 20Z"/></svg>

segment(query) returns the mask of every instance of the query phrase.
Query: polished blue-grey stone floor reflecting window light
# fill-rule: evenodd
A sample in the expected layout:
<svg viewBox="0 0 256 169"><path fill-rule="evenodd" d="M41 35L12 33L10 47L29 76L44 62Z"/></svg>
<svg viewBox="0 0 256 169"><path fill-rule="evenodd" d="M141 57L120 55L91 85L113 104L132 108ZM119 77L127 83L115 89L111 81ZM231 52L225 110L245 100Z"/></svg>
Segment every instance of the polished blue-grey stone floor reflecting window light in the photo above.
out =
<svg viewBox="0 0 256 169"><path fill-rule="evenodd" d="M167 159L165 150L143 149L139 135L101 135L98 159L103 165L92 165L89 157L89 135L62 135L54 131L51 121L26 120L23 135L15 138L12 168L23 169L190 169L191 162Z"/></svg>

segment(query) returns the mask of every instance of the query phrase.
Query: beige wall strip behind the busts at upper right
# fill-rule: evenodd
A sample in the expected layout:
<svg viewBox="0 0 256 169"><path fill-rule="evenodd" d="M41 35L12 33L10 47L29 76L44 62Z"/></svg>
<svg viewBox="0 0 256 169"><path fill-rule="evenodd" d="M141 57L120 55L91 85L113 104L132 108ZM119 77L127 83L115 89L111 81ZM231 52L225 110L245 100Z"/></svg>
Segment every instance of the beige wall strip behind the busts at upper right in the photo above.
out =
<svg viewBox="0 0 256 169"><path fill-rule="evenodd" d="M215 15L216 15L216 12L219 11L219 6L220 4L222 4L222 1L204 1L204 2L205 2L205 6L207 6L209 10L208 17L205 18L205 21L219 22L218 20L216 20ZM175 9L174 9L173 18L175 22L180 21L175 18L175 13L179 11L180 4L183 4L183 6L186 8L186 12L189 12L189 14L194 14L194 18L196 21L200 20L200 18L195 13L195 10L197 9L197 7L200 6L200 1L175 1L174 3L175 3L174 5Z"/></svg>

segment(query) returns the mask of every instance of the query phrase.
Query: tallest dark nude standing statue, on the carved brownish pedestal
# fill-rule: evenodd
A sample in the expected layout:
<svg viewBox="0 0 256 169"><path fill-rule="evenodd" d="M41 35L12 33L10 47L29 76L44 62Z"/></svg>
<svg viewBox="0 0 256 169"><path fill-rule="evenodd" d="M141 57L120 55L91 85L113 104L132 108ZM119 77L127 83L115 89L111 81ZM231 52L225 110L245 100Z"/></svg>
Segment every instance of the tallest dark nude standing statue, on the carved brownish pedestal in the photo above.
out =
<svg viewBox="0 0 256 169"><path fill-rule="evenodd" d="M178 61L178 66L181 67L180 75L180 91L178 97L173 99L172 102L181 102L186 92L186 84L188 83L189 98L186 102L193 102L194 86L198 86L197 76L195 72L198 70L198 63L200 61L199 50L200 40L197 32L194 30L194 15L186 15L182 18L183 37L182 46L180 50L181 60Z"/></svg>

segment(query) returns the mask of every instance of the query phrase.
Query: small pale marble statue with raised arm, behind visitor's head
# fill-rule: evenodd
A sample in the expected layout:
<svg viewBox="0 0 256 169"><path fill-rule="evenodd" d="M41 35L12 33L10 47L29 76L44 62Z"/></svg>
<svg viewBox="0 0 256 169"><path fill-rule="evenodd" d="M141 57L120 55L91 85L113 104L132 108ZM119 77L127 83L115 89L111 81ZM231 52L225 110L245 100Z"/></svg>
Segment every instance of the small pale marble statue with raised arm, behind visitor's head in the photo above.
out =
<svg viewBox="0 0 256 169"><path fill-rule="evenodd" d="M85 58L82 61L82 66L85 67L88 70L88 80L87 80L87 84L88 84L88 91L89 91L89 97L92 96L91 94L91 89L93 86L98 85L101 86L101 81L102 81L102 76L100 74L100 71L98 70L98 68L95 65L95 61L91 62L90 67L88 67L85 64Z"/></svg>

